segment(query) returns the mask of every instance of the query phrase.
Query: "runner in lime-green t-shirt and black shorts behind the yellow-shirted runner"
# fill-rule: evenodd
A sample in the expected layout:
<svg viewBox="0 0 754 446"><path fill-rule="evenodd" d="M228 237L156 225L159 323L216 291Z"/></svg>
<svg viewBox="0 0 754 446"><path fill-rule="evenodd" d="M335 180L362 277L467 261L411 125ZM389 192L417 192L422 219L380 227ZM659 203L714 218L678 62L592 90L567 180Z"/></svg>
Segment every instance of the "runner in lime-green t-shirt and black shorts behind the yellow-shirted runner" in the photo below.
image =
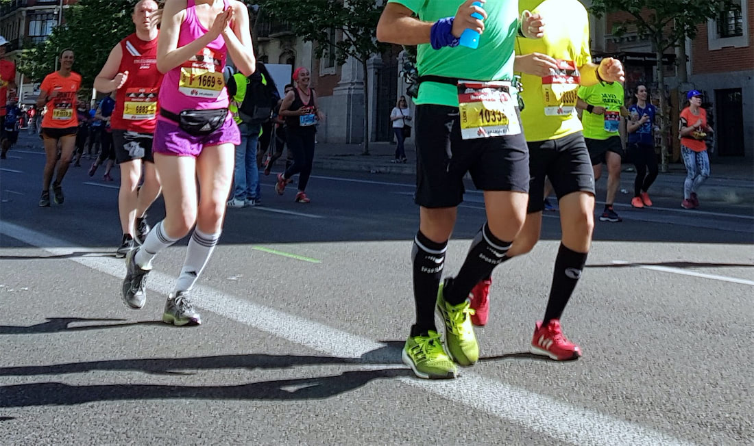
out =
<svg viewBox="0 0 754 446"><path fill-rule="evenodd" d="M623 85L620 82L599 82L578 90L576 107L581 108L584 140L594 168L594 181L602 176L602 163L608 165L608 193L605 210L599 221L623 221L613 209L615 195L621 185L621 158L623 143L619 133L623 118L628 116L624 107Z"/></svg>

